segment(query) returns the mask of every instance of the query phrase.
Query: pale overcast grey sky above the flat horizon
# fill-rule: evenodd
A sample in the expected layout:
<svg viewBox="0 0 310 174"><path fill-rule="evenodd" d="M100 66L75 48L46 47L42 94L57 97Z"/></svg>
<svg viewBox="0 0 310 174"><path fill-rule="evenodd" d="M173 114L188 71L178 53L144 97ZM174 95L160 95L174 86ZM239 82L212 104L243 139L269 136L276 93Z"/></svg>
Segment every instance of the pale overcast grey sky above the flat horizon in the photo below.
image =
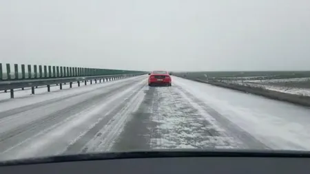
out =
<svg viewBox="0 0 310 174"><path fill-rule="evenodd" d="M0 0L0 62L310 70L309 0Z"/></svg>

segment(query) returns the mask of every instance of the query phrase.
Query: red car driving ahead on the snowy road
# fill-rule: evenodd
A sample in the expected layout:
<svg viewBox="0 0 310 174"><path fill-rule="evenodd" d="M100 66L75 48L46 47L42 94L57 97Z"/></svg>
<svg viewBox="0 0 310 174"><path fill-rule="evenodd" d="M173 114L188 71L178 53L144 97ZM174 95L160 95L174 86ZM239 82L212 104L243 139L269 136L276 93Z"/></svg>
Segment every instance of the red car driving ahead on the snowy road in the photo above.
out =
<svg viewBox="0 0 310 174"><path fill-rule="evenodd" d="M154 71L149 73L149 86L166 85L171 86L170 74L166 71Z"/></svg>

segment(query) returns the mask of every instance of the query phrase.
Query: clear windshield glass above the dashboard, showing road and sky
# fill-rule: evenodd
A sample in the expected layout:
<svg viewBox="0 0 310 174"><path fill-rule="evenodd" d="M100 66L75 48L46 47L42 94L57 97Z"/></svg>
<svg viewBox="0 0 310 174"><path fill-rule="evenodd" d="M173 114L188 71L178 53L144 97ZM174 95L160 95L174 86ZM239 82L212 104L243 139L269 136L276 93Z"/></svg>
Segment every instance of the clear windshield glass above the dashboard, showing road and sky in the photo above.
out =
<svg viewBox="0 0 310 174"><path fill-rule="evenodd" d="M309 19L305 0L0 1L0 160L309 151Z"/></svg>

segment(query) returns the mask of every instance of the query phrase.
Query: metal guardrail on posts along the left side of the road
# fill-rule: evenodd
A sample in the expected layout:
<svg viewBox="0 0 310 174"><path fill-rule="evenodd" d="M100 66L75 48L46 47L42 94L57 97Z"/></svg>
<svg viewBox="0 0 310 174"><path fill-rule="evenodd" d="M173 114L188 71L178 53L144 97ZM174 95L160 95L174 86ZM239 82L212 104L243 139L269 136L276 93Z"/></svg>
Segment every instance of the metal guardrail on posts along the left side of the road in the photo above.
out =
<svg viewBox="0 0 310 174"><path fill-rule="evenodd" d="M24 89L25 87L31 87L32 94L34 94L34 88L38 86L47 86L48 91L50 91L50 85L58 85L59 89L62 89L63 83L69 83L70 88L72 88L72 83L77 82L80 86L81 82L84 82L87 85L87 81L90 80L90 84L94 80L95 83L99 80L107 81L109 80L118 80L127 77L141 76L145 73L138 74L115 74L115 75L106 75L106 76L84 76L84 77L73 77L73 78L48 78L48 79L27 79L27 80L5 80L0 81L0 90L10 90L10 97L14 98L14 89Z"/></svg>

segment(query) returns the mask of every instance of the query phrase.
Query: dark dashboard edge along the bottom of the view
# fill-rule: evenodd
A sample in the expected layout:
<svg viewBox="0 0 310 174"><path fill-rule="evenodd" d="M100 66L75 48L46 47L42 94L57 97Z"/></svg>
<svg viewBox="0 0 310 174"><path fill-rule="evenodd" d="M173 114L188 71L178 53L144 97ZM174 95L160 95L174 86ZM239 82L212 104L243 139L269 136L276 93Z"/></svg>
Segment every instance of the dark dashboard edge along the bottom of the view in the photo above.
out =
<svg viewBox="0 0 310 174"><path fill-rule="evenodd" d="M226 155L225 155L226 154ZM301 152L160 151L46 157L2 162L11 173L310 173L310 155Z"/></svg>

